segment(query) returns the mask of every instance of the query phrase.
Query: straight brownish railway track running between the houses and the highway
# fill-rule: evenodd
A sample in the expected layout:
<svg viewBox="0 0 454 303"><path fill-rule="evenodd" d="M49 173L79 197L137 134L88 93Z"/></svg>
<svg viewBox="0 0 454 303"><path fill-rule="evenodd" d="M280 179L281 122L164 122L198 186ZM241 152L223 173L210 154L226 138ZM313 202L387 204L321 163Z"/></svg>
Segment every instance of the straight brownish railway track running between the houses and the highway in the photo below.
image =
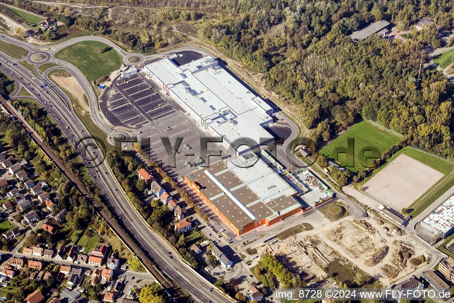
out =
<svg viewBox="0 0 454 303"><path fill-rule="evenodd" d="M10 113L11 116L15 117L18 121L20 121L23 127L29 132L30 139L39 146L40 149L43 150L44 154L52 160L52 162L58 167L58 169L65 175L70 182L74 184L74 186L79 190L79 192L84 196L87 201L92 204L95 211L99 214L99 216L104 219L117 233L118 237L121 238L123 243L125 243L129 250L131 250L134 255L139 258L139 260L143 263L145 268L158 280L159 283L163 286L163 288L172 295L173 298L180 298L180 293L177 289L173 287L173 285L164 278L163 274L156 268L155 264L153 263L152 259L148 257L148 255L140 248L140 244L137 243L125 230L122 228L117 221L112 219L108 212L105 211L103 206L99 204L89 193L89 191L82 185L78 179L66 168L64 163L56 156L52 150L43 142L41 137L35 132L35 130L28 124L25 119L16 113L16 109L7 102L3 97L0 96L0 103L3 107Z"/></svg>

